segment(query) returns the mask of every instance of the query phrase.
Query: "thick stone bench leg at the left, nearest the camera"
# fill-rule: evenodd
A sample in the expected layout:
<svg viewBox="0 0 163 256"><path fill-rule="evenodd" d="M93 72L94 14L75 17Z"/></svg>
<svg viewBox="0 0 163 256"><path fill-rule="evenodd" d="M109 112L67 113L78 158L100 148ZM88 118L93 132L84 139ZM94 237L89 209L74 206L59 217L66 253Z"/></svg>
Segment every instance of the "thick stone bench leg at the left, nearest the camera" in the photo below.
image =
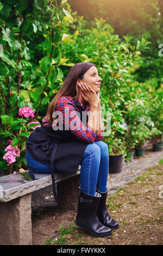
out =
<svg viewBox="0 0 163 256"><path fill-rule="evenodd" d="M1 245L32 245L31 196L0 202Z"/></svg>

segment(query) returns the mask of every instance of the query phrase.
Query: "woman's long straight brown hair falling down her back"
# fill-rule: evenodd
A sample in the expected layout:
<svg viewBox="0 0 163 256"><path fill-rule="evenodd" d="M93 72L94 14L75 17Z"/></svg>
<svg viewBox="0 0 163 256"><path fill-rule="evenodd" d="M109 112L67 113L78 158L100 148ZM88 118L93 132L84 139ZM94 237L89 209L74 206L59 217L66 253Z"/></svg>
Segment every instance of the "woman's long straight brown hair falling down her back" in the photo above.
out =
<svg viewBox="0 0 163 256"><path fill-rule="evenodd" d="M47 120L53 123L55 118L52 118L52 114L56 109L57 102L60 97L62 96L71 96L72 99L77 100L79 96L79 88L76 85L78 78L81 80L84 77L84 74L87 70L91 68L91 66L96 66L95 64L89 62L80 62L75 64L70 72L68 73L64 83L62 84L61 88L59 89L58 93L55 95L53 100L48 106L46 115Z"/></svg>

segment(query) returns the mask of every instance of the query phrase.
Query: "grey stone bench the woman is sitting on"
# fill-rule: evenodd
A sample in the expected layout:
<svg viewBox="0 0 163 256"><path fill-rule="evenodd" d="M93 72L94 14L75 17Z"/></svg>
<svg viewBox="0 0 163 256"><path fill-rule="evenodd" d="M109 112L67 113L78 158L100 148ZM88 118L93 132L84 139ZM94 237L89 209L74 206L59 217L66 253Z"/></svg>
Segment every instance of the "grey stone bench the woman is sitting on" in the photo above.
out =
<svg viewBox="0 0 163 256"><path fill-rule="evenodd" d="M79 173L80 166L76 175L55 174L61 207L76 208ZM0 177L0 245L32 245L32 192L52 185L51 174L35 173L35 178L27 181L20 173Z"/></svg>

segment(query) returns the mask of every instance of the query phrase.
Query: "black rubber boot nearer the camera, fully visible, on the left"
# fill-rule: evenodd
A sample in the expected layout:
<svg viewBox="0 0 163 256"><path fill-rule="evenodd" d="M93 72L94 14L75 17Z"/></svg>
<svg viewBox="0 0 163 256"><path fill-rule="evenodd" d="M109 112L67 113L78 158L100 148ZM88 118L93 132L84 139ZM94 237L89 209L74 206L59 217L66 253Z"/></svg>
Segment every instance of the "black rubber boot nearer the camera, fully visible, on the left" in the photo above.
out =
<svg viewBox="0 0 163 256"><path fill-rule="evenodd" d="M76 224L80 228L84 228L89 231L93 236L102 237L111 235L111 229L105 227L96 215L99 200L101 194L97 193L94 196L90 196L84 192L80 192L78 202L78 214L76 217Z"/></svg>

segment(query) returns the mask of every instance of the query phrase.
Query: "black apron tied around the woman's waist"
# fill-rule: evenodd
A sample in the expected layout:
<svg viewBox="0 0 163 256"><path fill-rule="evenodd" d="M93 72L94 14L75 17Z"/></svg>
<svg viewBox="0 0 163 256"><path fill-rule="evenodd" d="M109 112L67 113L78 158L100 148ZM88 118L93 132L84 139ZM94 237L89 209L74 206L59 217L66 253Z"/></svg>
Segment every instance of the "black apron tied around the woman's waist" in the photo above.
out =
<svg viewBox="0 0 163 256"><path fill-rule="evenodd" d="M77 101L74 101L74 105L76 105L80 113L79 118L82 121L84 108ZM87 121L88 115L86 114L86 119L83 120L85 126ZM82 162L84 151L87 145L90 144L79 141L69 130L65 130L65 127L63 129L54 131L52 127L43 127L41 125L30 134L26 142L26 149L29 155L34 160L51 168L55 202L58 202L55 191L55 169L59 170L59 172L76 174Z"/></svg>

